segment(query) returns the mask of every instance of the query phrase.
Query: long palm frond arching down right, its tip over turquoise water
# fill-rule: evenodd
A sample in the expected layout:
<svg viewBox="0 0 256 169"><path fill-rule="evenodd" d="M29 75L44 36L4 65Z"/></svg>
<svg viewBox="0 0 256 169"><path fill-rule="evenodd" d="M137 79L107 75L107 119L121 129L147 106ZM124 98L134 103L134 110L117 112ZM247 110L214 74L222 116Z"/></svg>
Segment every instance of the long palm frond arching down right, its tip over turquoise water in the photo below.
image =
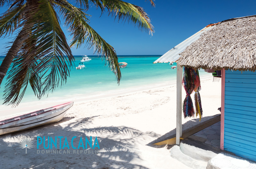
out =
<svg viewBox="0 0 256 169"><path fill-rule="evenodd" d="M69 26L69 31L73 36L70 46L81 47L83 43L88 45L88 48L94 48L94 52L105 56L106 64L116 75L117 83L119 84L121 79L121 71L118 65L118 58L116 51L109 45L91 26L88 24L86 14L79 8L69 4L67 1L62 1L59 10L61 14L65 16L65 24Z"/></svg>

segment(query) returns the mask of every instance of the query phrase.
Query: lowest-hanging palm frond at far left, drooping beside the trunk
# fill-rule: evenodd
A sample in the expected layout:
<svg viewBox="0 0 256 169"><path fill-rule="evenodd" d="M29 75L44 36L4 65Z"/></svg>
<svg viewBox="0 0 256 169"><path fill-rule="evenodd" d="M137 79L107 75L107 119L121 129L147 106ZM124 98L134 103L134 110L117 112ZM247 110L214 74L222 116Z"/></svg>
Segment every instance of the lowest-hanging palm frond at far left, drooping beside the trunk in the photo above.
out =
<svg viewBox="0 0 256 169"><path fill-rule="evenodd" d="M18 56L13 60L11 71L7 77L7 87L4 89L4 104L17 106L29 84L37 97L40 96L40 75L38 72L35 73L36 60L33 55L29 55L29 50L34 47L35 41L27 39Z"/></svg>

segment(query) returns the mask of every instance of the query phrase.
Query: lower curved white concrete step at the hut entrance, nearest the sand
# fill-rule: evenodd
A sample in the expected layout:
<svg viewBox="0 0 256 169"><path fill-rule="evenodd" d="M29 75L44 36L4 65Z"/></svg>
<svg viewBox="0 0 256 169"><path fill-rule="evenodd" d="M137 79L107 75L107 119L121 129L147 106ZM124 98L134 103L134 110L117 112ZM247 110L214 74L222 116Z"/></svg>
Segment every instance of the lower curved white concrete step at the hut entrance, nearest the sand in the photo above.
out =
<svg viewBox="0 0 256 169"><path fill-rule="evenodd" d="M207 162L196 160L180 151L180 146L175 145L170 149L171 157L194 169L206 169Z"/></svg>

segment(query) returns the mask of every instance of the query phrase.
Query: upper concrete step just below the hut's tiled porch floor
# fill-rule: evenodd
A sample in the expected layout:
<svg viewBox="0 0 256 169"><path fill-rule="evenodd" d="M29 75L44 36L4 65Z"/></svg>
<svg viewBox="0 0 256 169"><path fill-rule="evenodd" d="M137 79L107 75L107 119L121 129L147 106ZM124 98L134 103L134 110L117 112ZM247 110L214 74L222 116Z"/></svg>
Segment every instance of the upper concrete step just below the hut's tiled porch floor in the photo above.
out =
<svg viewBox="0 0 256 169"><path fill-rule="evenodd" d="M185 139L180 143L180 151L196 160L208 162L214 156L221 152L220 149L212 147L209 144Z"/></svg>

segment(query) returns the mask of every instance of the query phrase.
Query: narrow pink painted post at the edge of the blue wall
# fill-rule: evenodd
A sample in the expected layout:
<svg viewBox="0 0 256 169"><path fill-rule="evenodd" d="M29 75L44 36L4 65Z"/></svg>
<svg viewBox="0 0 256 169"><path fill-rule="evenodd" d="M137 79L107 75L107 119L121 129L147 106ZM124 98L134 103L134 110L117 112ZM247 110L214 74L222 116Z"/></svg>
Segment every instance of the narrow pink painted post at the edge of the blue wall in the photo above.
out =
<svg viewBox="0 0 256 169"><path fill-rule="evenodd" d="M221 70L220 149L224 150L225 69Z"/></svg>

